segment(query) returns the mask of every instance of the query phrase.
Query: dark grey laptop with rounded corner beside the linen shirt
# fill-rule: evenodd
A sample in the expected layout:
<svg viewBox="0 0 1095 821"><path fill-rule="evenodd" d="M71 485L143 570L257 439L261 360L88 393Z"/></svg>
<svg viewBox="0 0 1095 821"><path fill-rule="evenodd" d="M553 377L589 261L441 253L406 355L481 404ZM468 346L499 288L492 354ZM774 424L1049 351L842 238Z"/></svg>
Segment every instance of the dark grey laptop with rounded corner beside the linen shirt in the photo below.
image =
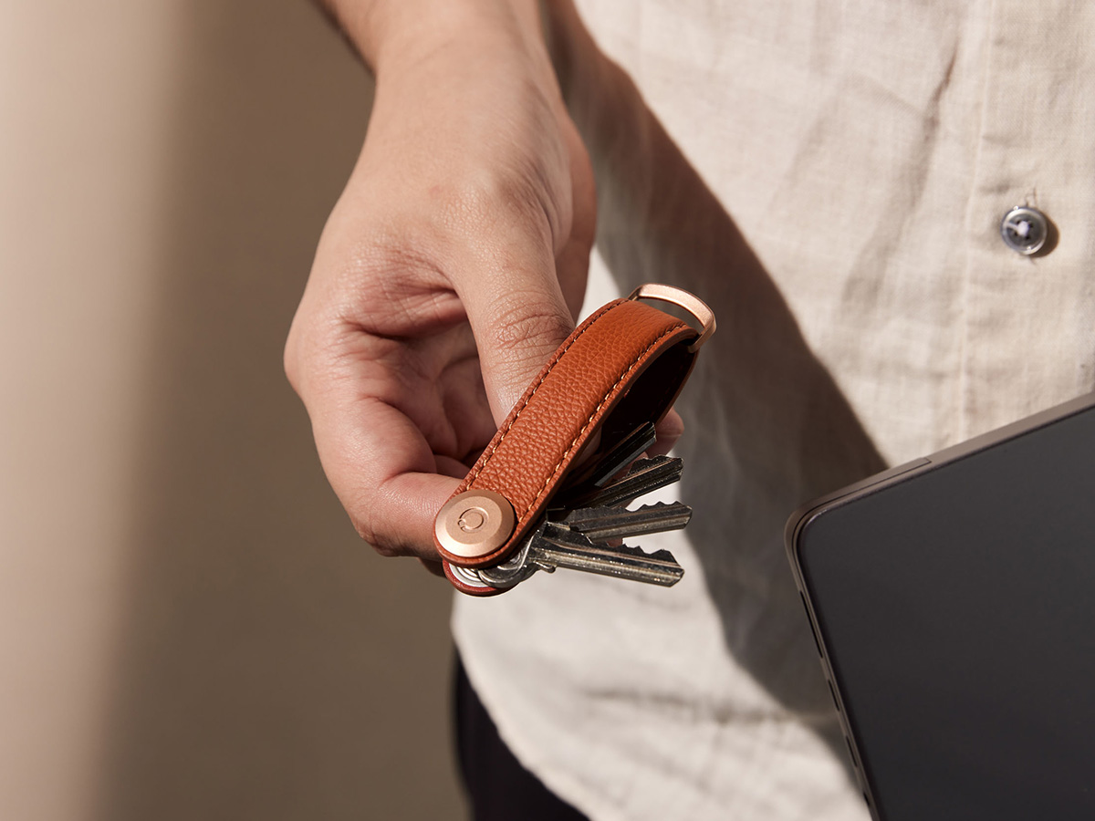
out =
<svg viewBox="0 0 1095 821"><path fill-rule="evenodd" d="M817 499L786 546L877 821L1095 819L1095 394Z"/></svg>

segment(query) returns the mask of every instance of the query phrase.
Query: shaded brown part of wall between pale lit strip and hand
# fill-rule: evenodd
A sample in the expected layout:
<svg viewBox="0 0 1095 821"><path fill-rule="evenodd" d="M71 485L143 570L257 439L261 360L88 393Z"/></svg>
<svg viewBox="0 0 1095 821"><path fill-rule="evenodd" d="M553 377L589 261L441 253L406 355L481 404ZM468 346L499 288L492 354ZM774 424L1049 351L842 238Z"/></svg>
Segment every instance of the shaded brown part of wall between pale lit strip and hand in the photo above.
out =
<svg viewBox="0 0 1095 821"><path fill-rule="evenodd" d="M303 0L178 5L188 66L99 816L459 818L450 590L358 541L281 372L366 72Z"/></svg>

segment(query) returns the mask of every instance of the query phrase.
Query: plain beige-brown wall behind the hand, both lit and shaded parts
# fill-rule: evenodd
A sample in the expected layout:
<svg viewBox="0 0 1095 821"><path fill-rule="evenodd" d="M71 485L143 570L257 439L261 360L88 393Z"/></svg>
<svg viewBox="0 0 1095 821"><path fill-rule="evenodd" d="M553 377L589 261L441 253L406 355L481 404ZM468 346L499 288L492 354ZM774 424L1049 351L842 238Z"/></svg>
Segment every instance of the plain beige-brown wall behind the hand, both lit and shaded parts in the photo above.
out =
<svg viewBox="0 0 1095 821"><path fill-rule="evenodd" d="M281 373L369 99L308 0L0 0L0 818L464 817Z"/></svg>

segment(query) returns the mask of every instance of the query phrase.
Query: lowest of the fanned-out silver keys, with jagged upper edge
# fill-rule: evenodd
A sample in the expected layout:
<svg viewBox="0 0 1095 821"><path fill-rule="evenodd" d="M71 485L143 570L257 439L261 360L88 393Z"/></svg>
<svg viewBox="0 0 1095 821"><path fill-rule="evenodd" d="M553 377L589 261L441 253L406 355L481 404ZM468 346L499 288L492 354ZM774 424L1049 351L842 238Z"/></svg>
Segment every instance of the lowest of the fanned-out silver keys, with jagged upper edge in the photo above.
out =
<svg viewBox="0 0 1095 821"><path fill-rule="evenodd" d="M684 575L684 568L677 564L669 551L647 554L627 545L609 547L593 544L575 532L561 535L557 542L535 540L529 559L546 567L563 567L661 587L672 587Z"/></svg>

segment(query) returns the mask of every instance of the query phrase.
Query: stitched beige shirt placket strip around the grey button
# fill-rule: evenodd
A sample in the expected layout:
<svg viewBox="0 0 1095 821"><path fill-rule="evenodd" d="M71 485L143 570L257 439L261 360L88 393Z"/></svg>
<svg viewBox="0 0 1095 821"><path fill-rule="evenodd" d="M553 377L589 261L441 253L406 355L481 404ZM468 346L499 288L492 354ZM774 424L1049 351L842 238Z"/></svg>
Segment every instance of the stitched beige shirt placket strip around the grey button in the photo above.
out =
<svg viewBox="0 0 1095 821"><path fill-rule="evenodd" d="M1093 386L1095 9L996 2L991 25L965 226L960 438ZM1040 215L1048 235L1028 254Z"/></svg>

